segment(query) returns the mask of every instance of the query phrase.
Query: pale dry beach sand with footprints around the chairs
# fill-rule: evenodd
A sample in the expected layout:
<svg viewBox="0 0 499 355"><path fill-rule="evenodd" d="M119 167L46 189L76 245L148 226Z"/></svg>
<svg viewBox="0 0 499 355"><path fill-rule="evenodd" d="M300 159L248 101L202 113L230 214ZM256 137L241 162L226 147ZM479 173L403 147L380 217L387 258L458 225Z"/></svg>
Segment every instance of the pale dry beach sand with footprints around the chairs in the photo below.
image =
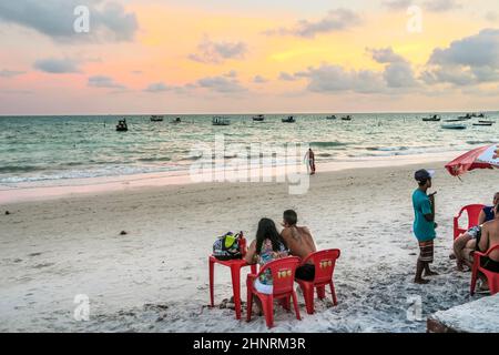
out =
<svg viewBox="0 0 499 355"><path fill-rule="evenodd" d="M424 166L437 170L438 191L440 276L428 285L413 283L410 196L420 164L319 171L304 195L289 195L285 183L201 183L6 203L0 332L266 332L263 317L240 322L220 307L232 294L225 267L215 270L217 306L207 307L207 256L217 235L241 230L251 241L261 217L281 222L286 209L297 211L318 248L342 250L339 304L316 301L307 315L298 294L303 321L276 307L272 332L425 332L428 315L479 297L469 296L470 274L448 257L452 216L465 204L490 203L498 187L490 171L461 182L441 162ZM78 294L89 296L88 322L73 318ZM407 318L411 296L421 297L420 322Z"/></svg>

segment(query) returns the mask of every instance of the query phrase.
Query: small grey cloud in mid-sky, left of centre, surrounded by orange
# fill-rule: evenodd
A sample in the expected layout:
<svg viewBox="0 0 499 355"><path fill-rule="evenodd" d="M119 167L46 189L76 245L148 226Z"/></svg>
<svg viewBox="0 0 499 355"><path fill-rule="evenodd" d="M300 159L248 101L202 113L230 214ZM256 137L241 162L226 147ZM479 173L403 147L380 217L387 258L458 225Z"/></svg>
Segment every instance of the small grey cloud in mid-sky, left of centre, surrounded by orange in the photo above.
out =
<svg viewBox="0 0 499 355"><path fill-rule="evenodd" d="M201 63L220 64L228 59L244 59L247 45L244 42L215 42L204 37L197 45L197 52L189 59Z"/></svg>

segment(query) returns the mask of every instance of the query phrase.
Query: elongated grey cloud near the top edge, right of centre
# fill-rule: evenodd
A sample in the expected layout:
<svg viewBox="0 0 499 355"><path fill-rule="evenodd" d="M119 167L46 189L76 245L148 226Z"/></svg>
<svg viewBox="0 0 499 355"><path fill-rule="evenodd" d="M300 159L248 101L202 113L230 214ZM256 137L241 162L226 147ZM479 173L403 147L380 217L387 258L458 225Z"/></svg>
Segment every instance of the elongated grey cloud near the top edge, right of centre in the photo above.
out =
<svg viewBox="0 0 499 355"><path fill-rule="evenodd" d="M318 21L302 20L293 28L268 30L267 36L296 36L313 39L320 33L345 31L361 23L360 17L352 10L330 10L325 18Z"/></svg>

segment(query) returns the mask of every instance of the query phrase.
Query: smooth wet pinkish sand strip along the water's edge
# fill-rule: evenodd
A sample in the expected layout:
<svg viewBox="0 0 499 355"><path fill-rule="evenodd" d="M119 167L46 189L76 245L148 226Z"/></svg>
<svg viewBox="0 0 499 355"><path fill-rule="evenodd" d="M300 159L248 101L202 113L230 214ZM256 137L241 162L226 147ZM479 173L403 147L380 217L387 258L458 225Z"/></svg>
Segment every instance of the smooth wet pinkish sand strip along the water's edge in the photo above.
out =
<svg viewBox="0 0 499 355"><path fill-rule="evenodd" d="M429 153L415 155L393 155L393 156L373 156L368 159L357 159L339 162L327 162L317 165L317 174L326 172L356 170L356 169L373 169L373 168L389 168L389 166L405 166L413 164L435 164L444 163L462 154L464 151L445 152L445 153ZM283 168L283 166L279 166ZM279 170L277 168L277 171ZM289 166L286 166L289 168ZM292 166L305 174L306 171L303 165ZM246 175L254 176L256 172L259 179L268 178L263 171L266 169L249 169L245 170ZM283 174L275 173L275 168L272 169L271 182L276 182ZM225 173L231 173L232 170L226 170ZM216 176L218 173L214 172ZM190 185L195 183L233 183L230 181L203 181L202 175L191 175L189 171L175 172L160 172L145 174L131 174L119 176L103 176L103 178L85 178L85 179L64 179L50 180L44 182L19 183L16 187L0 186L0 205L10 205L21 202L44 201L61 199L64 196L89 195L111 193L128 190L138 190L145 187L160 187L170 185ZM267 182L267 181L247 181L247 183ZM235 183L241 183L236 181Z"/></svg>

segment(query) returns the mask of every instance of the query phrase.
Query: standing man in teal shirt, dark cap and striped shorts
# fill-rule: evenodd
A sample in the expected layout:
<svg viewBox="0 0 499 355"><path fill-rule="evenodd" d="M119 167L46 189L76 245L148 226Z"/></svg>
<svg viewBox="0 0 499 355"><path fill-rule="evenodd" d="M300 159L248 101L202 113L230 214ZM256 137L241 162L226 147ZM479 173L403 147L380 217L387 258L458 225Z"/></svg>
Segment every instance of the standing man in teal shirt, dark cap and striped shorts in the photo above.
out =
<svg viewBox="0 0 499 355"><path fill-rule="evenodd" d="M435 175L434 171L418 170L414 178L418 182L419 187L413 193L413 207L415 214L414 234L419 243L419 257L416 264L416 277L414 280L417 284L427 284L429 281L422 278L425 276L438 275L429 268L429 264L434 262L434 240L437 236L435 229L435 194L427 194L431 187L431 178Z"/></svg>

